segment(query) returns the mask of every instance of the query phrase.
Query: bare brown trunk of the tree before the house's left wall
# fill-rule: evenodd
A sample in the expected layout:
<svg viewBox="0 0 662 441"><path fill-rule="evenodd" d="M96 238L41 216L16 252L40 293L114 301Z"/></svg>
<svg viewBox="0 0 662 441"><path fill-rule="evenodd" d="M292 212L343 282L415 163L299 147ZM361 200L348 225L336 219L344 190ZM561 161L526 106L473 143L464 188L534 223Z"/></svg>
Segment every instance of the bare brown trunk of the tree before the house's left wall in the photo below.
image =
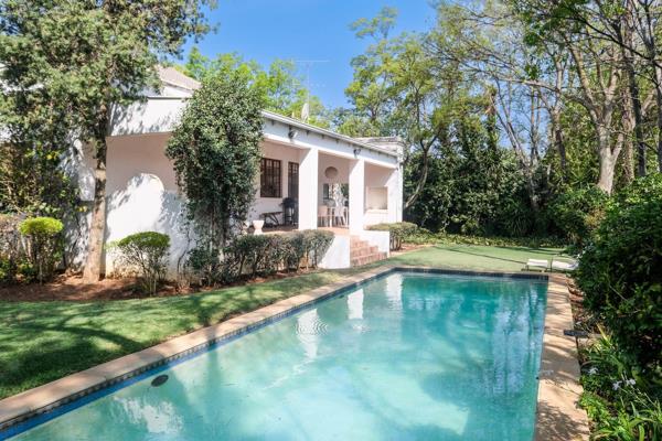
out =
<svg viewBox="0 0 662 441"><path fill-rule="evenodd" d="M106 137L97 139L95 147L94 203L89 223L87 257L83 270L83 281L86 283L96 282L100 278L106 229L106 153L108 150Z"/></svg>

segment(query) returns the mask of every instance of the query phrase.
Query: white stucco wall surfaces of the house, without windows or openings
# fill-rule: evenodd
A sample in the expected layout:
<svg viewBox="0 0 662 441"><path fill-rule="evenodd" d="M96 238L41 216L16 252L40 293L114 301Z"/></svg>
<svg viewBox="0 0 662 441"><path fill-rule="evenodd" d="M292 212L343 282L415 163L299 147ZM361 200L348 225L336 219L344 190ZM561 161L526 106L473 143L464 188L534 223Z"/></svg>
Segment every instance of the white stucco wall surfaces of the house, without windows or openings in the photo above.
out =
<svg viewBox="0 0 662 441"><path fill-rule="evenodd" d="M182 228L183 206L178 193L172 164L164 155L169 132L177 123L186 104L186 92L166 87L161 97L116 109L108 141L107 228L106 241L129 234L156 230L171 237L171 269L192 246L191 232ZM299 164L299 225L317 227L317 208L323 203L324 183L349 183L350 200L354 194L355 219L353 234L365 233L366 225L402 219L402 170L393 149L380 150L329 131L301 127L300 122L265 112L263 155L281 161L281 196L260 197L256 182L256 202L250 219L265 212L282 212L282 198L288 196L288 162ZM82 195L90 201L94 194L94 173L90 152L81 149L77 168ZM356 168L356 164L361 164ZM329 179L324 171L334 166L339 173ZM353 171L353 180L351 176ZM257 178L259 180L259 178ZM352 189L352 182L354 183ZM387 208L369 209L367 186L387 189ZM380 191L383 197L384 192ZM367 195L367 204L366 204ZM350 201L352 209L352 202ZM305 213L302 213L305 212ZM83 224L89 216L83 216ZM279 219L282 222L282 217ZM380 249L384 248L383 234L372 232L364 238ZM78 243L79 258L84 258L86 234ZM387 240L386 251L387 251ZM332 268L349 266L349 239L337 238L323 265ZM345 262L346 260L346 262ZM106 257L107 272L113 270L113 256Z"/></svg>

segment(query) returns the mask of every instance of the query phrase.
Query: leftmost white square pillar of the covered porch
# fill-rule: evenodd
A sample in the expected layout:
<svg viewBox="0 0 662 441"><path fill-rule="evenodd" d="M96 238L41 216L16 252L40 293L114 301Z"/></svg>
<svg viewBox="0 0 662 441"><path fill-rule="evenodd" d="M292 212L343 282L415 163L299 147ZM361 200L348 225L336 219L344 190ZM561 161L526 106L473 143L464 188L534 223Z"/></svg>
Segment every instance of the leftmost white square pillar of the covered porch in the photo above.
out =
<svg viewBox="0 0 662 441"><path fill-rule="evenodd" d="M299 152L299 229L317 228L318 163L317 149Z"/></svg>

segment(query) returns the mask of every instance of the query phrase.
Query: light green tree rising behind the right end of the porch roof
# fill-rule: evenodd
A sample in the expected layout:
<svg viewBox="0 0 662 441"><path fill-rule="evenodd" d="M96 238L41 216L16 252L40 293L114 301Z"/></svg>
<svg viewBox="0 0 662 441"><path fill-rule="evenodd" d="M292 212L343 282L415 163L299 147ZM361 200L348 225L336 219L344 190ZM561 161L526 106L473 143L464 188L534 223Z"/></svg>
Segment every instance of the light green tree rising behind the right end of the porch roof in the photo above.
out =
<svg viewBox="0 0 662 441"><path fill-rule="evenodd" d="M450 121L466 111L474 97L457 64L439 65L426 49L430 35L402 34L389 37L395 12L383 9L374 19L353 23L356 36L373 37L364 54L352 60L353 82L345 94L356 117L365 121L365 136L399 136L409 146L405 164L419 161L416 184L406 187L405 208L420 196L430 154L449 142ZM355 130L359 131L359 130ZM360 132L360 131L359 131Z"/></svg>

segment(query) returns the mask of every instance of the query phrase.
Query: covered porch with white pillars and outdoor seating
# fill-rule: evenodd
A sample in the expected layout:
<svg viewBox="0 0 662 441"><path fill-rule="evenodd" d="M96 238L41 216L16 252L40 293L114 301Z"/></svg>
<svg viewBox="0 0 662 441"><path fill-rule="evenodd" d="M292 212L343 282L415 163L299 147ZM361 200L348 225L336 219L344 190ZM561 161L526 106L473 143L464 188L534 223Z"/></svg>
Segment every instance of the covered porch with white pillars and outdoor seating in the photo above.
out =
<svg viewBox="0 0 662 441"><path fill-rule="evenodd" d="M399 220L398 164L360 153L265 140L252 220L264 220L265 232L325 227L352 234Z"/></svg>

